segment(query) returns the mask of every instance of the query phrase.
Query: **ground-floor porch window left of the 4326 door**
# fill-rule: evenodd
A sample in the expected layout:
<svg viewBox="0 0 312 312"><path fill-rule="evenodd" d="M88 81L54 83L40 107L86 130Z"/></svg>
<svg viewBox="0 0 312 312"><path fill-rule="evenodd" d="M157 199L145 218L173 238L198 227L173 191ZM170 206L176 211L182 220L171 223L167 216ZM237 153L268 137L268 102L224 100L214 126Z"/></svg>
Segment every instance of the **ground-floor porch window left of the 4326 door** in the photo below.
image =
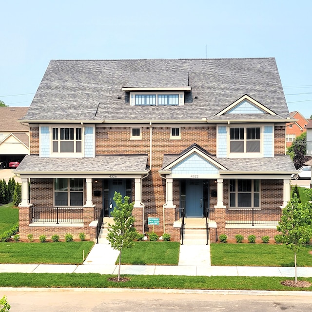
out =
<svg viewBox="0 0 312 312"><path fill-rule="evenodd" d="M55 178L54 205L83 206L83 179Z"/></svg>

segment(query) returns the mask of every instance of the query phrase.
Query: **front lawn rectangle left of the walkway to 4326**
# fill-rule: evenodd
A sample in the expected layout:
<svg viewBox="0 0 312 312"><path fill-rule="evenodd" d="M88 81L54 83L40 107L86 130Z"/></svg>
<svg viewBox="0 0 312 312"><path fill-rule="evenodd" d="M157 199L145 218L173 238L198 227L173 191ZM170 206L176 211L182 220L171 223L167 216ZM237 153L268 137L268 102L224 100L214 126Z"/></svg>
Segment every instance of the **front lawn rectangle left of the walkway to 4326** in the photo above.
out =
<svg viewBox="0 0 312 312"><path fill-rule="evenodd" d="M81 264L82 251L89 254L94 242L0 243L0 263Z"/></svg>

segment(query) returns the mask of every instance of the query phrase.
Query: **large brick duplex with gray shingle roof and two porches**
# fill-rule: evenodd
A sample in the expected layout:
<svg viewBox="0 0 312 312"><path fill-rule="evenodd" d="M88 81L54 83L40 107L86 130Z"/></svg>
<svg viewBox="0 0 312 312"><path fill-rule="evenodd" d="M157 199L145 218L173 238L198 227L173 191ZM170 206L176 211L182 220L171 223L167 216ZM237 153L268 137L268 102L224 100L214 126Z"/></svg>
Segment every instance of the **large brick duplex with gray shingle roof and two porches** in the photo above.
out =
<svg viewBox="0 0 312 312"><path fill-rule="evenodd" d="M211 241L273 238L290 199L294 120L273 58L52 60L21 121L22 237L95 239L116 191L140 233L187 239L185 215L195 230L207 216Z"/></svg>

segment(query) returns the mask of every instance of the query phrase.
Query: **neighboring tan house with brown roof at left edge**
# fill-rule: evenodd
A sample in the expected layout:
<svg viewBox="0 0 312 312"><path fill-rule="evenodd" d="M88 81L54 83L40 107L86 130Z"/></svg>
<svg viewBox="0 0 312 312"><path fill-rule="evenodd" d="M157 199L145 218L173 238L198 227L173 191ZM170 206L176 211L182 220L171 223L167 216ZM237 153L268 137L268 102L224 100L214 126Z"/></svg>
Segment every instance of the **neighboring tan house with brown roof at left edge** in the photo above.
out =
<svg viewBox="0 0 312 312"><path fill-rule="evenodd" d="M28 107L0 107L0 162L21 161L29 155L29 127L20 123Z"/></svg>

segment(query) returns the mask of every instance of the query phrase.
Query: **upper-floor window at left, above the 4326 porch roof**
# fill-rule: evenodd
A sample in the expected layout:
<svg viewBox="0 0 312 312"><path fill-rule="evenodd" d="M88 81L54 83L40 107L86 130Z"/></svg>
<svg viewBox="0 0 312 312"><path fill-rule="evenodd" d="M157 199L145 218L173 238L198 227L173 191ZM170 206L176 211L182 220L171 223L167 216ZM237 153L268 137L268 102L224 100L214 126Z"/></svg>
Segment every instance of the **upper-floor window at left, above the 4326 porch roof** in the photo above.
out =
<svg viewBox="0 0 312 312"><path fill-rule="evenodd" d="M81 128L53 128L53 153L81 153Z"/></svg>

